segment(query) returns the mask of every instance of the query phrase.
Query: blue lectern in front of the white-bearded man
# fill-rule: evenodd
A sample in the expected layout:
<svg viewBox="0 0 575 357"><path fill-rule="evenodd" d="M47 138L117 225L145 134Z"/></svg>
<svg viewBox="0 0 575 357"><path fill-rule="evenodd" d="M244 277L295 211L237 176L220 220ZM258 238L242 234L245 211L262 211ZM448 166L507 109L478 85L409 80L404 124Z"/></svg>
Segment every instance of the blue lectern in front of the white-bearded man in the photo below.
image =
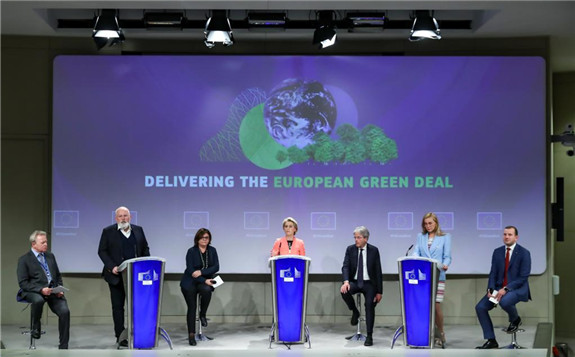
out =
<svg viewBox="0 0 575 357"><path fill-rule="evenodd" d="M126 290L129 348L158 346L165 264L164 258L140 257L118 267Z"/></svg>

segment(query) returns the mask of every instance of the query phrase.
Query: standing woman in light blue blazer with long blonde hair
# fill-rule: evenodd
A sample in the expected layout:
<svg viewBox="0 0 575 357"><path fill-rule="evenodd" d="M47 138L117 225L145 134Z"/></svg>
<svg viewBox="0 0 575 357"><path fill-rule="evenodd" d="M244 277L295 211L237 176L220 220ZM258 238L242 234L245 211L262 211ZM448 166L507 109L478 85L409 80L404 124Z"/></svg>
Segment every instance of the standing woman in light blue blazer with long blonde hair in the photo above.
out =
<svg viewBox="0 0 575 357"><path fill-rule="evenodd" d="M439 262L439 281L435 297L435 325L439 332L435 345L444 347L445 332L443 331L443 312L441 302L445 293L445 272L451 264L451 235L443 233L439 220L433 212L426 213L421 220L421 233L417 234L417 243L413 255L435 259Z"/></svg>

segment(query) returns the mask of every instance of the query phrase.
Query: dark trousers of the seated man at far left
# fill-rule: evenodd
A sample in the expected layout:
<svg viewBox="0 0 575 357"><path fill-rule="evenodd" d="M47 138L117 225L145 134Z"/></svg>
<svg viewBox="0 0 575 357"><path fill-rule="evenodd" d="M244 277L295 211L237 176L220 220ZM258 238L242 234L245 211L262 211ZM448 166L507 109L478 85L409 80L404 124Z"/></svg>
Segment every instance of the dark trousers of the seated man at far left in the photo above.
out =
<svg viewBox="0 0 575 357"><path fill-rule="evenodd" d="M50 310L58 316L60 347L68 348L68 342L70 341L70 309L68 308L66 298L57 297L54 294L45 297L44 295L33 292L26 292L23 297L31 304L32 330L41 331L40 318L44 310L44 303L48 303Z"/></svg>

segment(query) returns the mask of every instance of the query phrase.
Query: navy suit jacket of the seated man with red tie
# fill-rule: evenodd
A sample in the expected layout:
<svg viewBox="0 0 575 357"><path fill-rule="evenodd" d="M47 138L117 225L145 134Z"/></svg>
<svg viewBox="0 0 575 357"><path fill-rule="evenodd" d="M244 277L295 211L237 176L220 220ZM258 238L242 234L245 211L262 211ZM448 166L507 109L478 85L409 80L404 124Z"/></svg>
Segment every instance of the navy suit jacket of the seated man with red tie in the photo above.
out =
<svg viewBox="0 0 575 357"><path fill-rule="evenodd" d="M491 257L491 271L489 272L488 289L499 290L503 288L503 275L505 274L506 246L503 245L493 251ZM507 289L514 291L520 301L531 299L529 291L529 274L531 273L531 253L519 244L515 245L509 268L507 269Z"/></svg>

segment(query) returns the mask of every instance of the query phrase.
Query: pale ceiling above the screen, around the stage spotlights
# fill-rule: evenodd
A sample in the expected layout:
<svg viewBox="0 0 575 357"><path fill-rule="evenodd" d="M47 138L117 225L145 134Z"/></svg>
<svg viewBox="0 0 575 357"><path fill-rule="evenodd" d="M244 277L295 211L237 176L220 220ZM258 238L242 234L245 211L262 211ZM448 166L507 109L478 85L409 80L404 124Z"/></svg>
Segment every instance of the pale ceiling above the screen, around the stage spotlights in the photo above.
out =
<svg viewBox="0 0 575 357"><path fill-rule="evenodd" d="M438 20L445 17L472 16L471 30L442 30L444 38L509 38L549 36L553 72L575 71L575 1L379 1L379 0L2 0L2 34L35 36L89 36L89 29L58 30L58 18L91 18L95 9L116 8L124 13L137 10L383 10L389 16L414 9L436 10ZM130 10L131 9L131 10ZM445 19L445 18L443 18ZM294 36L287 34L288 36ZM249 36L248 33L242 34ZM307 35L307 34L306 34ZM173 36L150 31L126 31L126 37ZM201 36L200 31L187 31L178 36ZM386 30L385 38L405 38L400 30ZM236 34L236 40L240 34Z"/></svg>

